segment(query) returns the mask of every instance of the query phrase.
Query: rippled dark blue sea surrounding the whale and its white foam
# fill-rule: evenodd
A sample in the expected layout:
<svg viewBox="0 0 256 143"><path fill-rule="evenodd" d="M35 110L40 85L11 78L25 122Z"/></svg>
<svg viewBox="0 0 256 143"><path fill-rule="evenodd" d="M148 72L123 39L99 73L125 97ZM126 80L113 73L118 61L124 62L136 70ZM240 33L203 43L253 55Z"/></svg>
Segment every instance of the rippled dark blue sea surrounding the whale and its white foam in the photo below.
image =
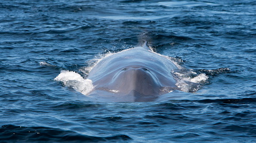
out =
<svg viewBox="0 0 256 143"><path fill-rule="evenodd" d="M144 33L186 69L231 70L153 102L91 101L54 80ZM255 43L254 0L1 0L0 142L253 143Z"/></svg>

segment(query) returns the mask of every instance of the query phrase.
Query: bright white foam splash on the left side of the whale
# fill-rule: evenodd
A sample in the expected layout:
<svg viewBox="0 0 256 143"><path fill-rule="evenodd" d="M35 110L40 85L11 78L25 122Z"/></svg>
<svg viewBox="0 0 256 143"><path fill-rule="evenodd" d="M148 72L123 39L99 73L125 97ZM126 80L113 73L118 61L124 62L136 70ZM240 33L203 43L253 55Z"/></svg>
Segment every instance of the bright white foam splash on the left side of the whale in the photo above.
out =
<svg viewBox="0 0 256 143"><path fill-rule="evenodd" d="M84 79L80 74L74 71L61 71L54 80L61 81L65 86L71 86L73 89L84 95L94 89L92 80Z"/></svg>

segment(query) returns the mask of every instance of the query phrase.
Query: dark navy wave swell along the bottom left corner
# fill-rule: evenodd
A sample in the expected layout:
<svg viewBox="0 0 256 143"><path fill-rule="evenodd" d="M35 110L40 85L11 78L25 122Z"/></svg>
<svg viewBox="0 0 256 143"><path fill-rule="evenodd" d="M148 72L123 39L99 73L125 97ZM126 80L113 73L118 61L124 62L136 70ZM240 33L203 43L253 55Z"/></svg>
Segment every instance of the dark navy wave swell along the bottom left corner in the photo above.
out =
<svg viewBox="0 0 256 143"><path fill-rule="evenodd" d="M2 125L2 127L0 127L0 140L6 142L122 142L131 139L131 137L125 134L117 134L107 137L96 137L78 134L74 131L49 127L24 127L15 125Z"/></svg>

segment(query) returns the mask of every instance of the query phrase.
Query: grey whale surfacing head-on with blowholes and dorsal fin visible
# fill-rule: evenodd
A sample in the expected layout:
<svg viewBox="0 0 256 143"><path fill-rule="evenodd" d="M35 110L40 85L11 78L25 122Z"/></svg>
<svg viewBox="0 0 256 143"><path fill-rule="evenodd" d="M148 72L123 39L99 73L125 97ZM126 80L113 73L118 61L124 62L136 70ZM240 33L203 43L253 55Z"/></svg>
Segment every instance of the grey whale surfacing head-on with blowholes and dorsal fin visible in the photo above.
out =
<svg viewBox="0 0 256 143"><path fill-rule="evenodd" d="M89 72L94 89L87 95L116 101L153 101L178 89L171 60L143 46L105 57Z"/></svg>

